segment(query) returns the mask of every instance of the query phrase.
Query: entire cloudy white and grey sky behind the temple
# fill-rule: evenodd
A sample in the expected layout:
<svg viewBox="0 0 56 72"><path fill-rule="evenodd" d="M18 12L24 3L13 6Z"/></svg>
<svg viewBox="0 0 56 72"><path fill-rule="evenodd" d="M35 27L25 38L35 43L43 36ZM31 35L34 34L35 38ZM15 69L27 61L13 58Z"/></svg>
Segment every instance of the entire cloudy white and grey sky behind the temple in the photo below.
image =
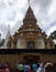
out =
<svg viewBox="0 0 56 72"><path fill-rule="evenodd" d="M56 0L30 0L37 23L49 35L56 30ZM23 24L27 0L0 0L0 33L5 38L10 24L11 35Z"/></svg>

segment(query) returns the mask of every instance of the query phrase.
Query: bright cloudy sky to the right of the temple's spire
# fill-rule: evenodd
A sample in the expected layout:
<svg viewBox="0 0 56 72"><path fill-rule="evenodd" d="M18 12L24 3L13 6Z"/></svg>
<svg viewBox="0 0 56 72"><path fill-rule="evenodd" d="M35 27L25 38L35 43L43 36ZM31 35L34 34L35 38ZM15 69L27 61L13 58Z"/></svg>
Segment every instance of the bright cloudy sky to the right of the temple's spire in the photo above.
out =
<svg viewBox="0 0 56 72"><path fill-rule="evenodd" d="M37 24L47 33L56 24L56 0L32 0L32 3Z"/></svg>

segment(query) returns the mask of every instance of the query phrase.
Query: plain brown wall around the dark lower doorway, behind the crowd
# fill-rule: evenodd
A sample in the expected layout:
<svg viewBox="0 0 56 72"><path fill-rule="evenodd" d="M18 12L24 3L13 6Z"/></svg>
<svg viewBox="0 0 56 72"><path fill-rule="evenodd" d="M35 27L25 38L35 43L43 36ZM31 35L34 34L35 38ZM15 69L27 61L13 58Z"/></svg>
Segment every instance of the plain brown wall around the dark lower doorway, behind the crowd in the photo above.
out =
<svg viewBox="0 0 56 72"><path fill-rule="evenodd" d="M36 54L40 55L40 61L53 63L56 62L56 54L42 54L42 53L20 53L20 54L0 54L0 63L9 62L11 66L15 66L16 62L23 61L24 55Z"/></svg>

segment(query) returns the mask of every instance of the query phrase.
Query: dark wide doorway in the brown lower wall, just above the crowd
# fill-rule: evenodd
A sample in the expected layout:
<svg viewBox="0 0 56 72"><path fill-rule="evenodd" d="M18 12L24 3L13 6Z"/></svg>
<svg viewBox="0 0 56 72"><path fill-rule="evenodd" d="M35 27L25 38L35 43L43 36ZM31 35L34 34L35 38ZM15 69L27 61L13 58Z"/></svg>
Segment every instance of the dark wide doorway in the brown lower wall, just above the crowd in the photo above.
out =
<svg viewBox="0 0 56 72"><path fill-rule="evenodd" d="M40 60L40 55L24 55L24 61L27 63L37 63Z"/></svg>

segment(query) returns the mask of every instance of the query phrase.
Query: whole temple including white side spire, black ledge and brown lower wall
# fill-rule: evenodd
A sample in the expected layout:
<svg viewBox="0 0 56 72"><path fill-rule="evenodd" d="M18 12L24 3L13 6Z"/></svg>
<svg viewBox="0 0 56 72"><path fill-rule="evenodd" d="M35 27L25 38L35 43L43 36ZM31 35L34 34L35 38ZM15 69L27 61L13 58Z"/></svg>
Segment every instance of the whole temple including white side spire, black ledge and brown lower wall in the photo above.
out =
<svg viewBox="0 0 56 72"><path fill-rule="evenodd" d="M0 42L0 45L2 43ZM0 50L0 63L5 61L14 69L20 62L56 63L56 50L52 37L47 37L37 24L34 12L29 4L23 24L11 37L8 30L4 48Z"/></svg>

